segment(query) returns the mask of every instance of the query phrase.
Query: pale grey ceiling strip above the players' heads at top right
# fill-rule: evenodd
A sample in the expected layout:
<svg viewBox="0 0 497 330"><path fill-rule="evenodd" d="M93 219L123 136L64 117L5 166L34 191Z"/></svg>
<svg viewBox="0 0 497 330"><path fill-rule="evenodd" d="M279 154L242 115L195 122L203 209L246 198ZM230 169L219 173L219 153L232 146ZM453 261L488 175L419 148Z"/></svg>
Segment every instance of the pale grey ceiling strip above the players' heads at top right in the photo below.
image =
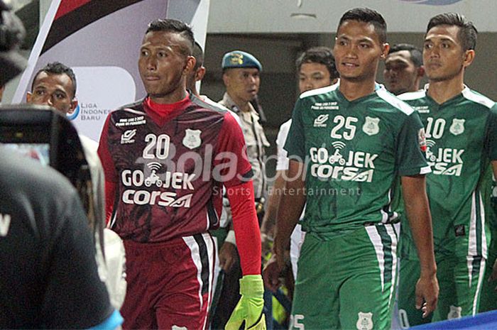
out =
<svg viewBox="0 0 497 330"><path fill-rule="evenodd" d="M479 31L497 31L495 0L210 0L208 33L330 33L342 14L368 6L389 32L423 32L437 13L456 11Z"/></svg>

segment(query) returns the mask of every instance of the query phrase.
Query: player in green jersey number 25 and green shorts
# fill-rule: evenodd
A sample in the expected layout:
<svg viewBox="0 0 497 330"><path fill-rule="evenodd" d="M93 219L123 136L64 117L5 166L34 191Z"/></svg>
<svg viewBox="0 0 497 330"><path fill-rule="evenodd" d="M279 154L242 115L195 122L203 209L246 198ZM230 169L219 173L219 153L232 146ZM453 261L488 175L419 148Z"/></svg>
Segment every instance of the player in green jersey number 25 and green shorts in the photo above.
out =
<svg viewBox="0 0 497 330"><path fill-rule="evenodd" d="M388 48L381 14L347 11L334 45L340 81L295 105L273 247L281 270L307 200L290 329L389 329L398 242L390 196L399 177L422 268L413 304L425 314L437 304L422 123L374 80ZM268 287L278 284L277 272L265 275Z"/></svg>

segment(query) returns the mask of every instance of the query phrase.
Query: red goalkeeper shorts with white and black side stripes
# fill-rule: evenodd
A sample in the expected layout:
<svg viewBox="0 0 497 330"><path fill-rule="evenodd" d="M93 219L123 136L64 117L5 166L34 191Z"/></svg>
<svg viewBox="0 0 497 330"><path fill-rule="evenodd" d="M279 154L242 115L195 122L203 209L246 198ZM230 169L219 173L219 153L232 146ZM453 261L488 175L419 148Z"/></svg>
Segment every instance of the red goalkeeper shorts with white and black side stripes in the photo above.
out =
<svg viewBox="0 0 497 330"><path fill-rule="evenodd" d="M123 329L205 329L214 274L209 233L164 243L124 241L124 247Z"/></svg>

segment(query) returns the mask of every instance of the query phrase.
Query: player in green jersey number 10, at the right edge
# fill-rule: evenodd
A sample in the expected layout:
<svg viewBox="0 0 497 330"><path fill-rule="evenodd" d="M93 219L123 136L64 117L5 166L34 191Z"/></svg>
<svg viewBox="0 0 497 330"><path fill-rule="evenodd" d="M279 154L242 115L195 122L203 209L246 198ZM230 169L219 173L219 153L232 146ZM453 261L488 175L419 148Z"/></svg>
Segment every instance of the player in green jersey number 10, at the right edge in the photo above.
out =
<svg viewBox="0 0 497 330"><path fill-rule="evenodd" d="M423 47L429 84L400 96L417 109L425 125L427 194L433 221L440 295L433 321L478 312L487 258L486 208L491 172L496 172L497 106L464 85L474 60L477 31L457 13L430 19ZM410 306L417 255L407 226L400 248L400 324L423 323Z"/></svg>

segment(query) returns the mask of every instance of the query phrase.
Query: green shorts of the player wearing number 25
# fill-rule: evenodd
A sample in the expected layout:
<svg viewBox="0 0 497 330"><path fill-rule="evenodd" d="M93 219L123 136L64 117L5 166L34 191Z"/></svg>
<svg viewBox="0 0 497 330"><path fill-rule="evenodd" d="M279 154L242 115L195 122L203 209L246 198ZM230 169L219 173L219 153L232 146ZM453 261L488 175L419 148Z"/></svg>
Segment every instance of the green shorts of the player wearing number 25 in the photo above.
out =
<svg viewBox="0 0 497 330"><path fill-rule="evenodd" d="M390 329L398 236L392 224L331 239L307 233L290 329Z"/></svg>

